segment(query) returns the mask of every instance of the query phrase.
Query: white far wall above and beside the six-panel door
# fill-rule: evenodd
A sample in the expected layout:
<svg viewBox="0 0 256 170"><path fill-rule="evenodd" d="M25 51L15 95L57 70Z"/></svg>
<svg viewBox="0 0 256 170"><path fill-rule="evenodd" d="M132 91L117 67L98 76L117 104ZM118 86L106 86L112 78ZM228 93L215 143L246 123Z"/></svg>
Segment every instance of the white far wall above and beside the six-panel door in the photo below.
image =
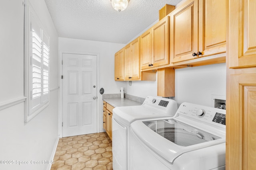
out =
<svg viewBox="0 0 256 170"><path fill-rule="evenodd" d="M117 51L122 49L124 44L107 43L100 41L88 41L82 39L70 39L59 37L59 50L62 52L82 52L82 53L95 53L99 55L99 80L100 88L104 88L104 94L118 94L120 93L120 87L125 87L125 82L117 82L114 80L114 56ZM99 131L103 129L103 103L102 95L98 96L100 103L98 105L98 111L100 111L99 117Z"/></svg>

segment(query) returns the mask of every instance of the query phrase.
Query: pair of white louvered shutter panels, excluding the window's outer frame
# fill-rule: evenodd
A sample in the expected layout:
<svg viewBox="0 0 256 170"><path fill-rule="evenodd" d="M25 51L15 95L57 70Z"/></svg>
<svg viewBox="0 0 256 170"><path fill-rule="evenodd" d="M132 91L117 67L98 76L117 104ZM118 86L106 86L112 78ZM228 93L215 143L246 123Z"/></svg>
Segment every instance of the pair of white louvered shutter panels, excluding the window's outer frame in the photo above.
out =
<svg viewBox="0 0 256 170"><path fill-rule="evenodd" d="M33 113L49 99L50 40L37 21L30 22L30 86L31 111Z"/></svg>

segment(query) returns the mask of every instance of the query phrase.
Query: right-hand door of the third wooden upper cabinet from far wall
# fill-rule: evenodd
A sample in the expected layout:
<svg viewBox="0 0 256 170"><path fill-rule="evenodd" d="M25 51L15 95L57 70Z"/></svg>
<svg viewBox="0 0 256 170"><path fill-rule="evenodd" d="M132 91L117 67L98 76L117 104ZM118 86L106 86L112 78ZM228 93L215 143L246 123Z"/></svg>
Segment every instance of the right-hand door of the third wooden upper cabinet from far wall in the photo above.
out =
<svg viewBox="0 0 256 170"><path fill-rule="evenodd" d="M166 16L152 27L153 67L169 64L169 20Z"/></svg>

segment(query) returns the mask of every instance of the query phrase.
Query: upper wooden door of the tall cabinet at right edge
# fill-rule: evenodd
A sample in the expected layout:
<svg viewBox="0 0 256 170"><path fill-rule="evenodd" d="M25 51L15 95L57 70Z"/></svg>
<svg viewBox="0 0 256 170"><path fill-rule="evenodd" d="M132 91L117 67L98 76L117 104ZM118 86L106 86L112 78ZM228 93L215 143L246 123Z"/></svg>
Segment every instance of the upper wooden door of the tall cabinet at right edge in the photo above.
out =
<svg viewBox="0 0 256 170"><path fill-rule="evenodd" d="M256 1L229 1L230 68L256 66Z"/></svg>

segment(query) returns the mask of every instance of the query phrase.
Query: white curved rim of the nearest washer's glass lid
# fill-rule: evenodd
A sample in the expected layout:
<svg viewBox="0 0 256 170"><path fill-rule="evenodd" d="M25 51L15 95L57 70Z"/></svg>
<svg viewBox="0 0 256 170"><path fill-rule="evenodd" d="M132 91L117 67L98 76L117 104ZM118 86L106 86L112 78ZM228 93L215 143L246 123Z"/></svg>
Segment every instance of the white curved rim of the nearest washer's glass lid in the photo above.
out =
<svg viewBox="0 0 256 170"><path fill-rule="evenodd" d="M169 119L170 121L177 121L175 118ZM144 121L145 122L145 121ZM210 147L213 145L218 145L221 143L225 143L225 136L224 135L209 135L212 137L216 137L216 140L209 140L202 142L202 140L198 140L198 142L195 142L194 144L186 143L185 140L190 140L190 138L186 138L186 136L181 136L179 141L172 142L158 133L154 132L152 127L154 125L149 125L148 123L143 123L143 121L135 121L131 124L131 133L144 145L146 145L148 148L162 156L164 159L166 159L168 162L173 163L174 160L180 156L181 154L185 152L190 152L193 150L198 150L206 147ZM156 125L160 126L160 125ZM188 128L191 130L190 128ZM193 128L192 128L193 129ZM200 129L194 128L194 131L199 131L200 135L202 135L202 131ZM191 132L190 132L191 133ZM176 135L182 135L182 133L177 133ZM204 133L205 134L205 133ZM209 133L208 133L209 134ZM183 134L184 135L184 134ZM183 139L182 139L183 137ZM217 139L218 138L218 139ZM176 139L177 140L177 139ZM200 142L199 142L200 141ZM182 146L180 143L186 143L185 146ZM184 145L184 144L183 144Z"/></svg>

